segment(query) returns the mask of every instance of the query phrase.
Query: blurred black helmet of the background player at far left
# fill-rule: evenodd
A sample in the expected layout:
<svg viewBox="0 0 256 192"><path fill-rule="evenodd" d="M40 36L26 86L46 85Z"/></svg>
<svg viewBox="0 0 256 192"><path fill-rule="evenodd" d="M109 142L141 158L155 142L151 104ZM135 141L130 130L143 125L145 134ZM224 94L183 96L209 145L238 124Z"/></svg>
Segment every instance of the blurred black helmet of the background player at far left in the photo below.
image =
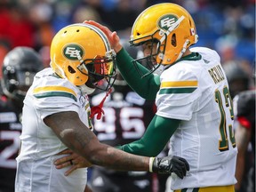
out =
<svg viewBox="0 0 256 192"><path fill-rule="evenodd" d="M43 60L32 48L19 46L12 49L4 57L2 66L4 94L14 100L24 100L34 76L43 68Z"/></svg>

